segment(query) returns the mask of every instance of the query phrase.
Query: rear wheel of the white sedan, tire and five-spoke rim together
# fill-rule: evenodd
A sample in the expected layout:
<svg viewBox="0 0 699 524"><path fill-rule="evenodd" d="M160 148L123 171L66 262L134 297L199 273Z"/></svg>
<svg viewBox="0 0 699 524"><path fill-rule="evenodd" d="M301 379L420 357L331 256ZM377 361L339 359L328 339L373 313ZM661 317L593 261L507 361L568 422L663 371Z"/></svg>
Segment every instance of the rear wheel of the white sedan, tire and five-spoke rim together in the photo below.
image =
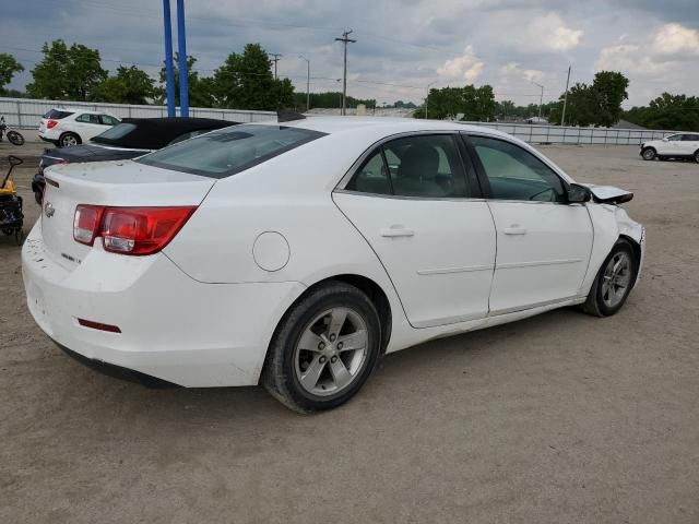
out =
<svg viewBox="0 0 699 524"><path fill-rule="evenodd" d="M356 287L329 281L299 299L277 325L261 383L295 412L331 409L359 391L380 349L375 305Z"/></svg>

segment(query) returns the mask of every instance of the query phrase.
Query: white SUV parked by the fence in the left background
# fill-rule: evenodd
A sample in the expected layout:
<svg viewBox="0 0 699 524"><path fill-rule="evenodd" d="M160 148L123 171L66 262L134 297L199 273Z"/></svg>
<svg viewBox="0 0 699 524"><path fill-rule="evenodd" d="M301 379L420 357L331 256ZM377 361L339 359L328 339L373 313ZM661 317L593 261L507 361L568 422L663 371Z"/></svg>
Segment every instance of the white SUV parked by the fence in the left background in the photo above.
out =
<svg viewBox="0 0 699 524"><path fill-rule="evenodd" d="M104 111L57 107L42 117L39 139L59 147L78 145L104 133L119 121L114 115Z"/></svg>

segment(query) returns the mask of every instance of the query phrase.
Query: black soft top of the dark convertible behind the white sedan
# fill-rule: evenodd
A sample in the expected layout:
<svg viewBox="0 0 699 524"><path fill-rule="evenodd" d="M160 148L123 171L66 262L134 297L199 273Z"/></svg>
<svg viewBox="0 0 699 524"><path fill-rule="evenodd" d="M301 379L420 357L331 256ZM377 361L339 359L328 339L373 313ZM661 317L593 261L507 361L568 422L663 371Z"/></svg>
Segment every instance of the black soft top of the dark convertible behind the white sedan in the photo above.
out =
<svg viewBox="0 0 699 524"><path fill-rule="evenodd" d="M92 139L98 144L141 150L159 150L173 140L192 131L212 131L235 126L238 122L213 118L125 118L121 123L131 123L135 129L119 139L105 139L102 135Z"/></svg>

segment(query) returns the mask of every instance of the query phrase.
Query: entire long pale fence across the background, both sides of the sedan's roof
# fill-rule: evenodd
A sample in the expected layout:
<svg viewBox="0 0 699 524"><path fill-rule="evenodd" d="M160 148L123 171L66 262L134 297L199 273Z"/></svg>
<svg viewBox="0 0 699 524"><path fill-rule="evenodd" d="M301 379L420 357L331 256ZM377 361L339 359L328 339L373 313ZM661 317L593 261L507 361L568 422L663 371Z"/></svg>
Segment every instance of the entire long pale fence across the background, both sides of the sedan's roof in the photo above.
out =
<svg viewBox="0 0 699 524"><path fill-rule="evenodd" d="M106 111L119 118L165 117L165 106L139 106L127 104L94 104L85 102L36 100L28 98L0 97L0 115L8 124L16 128L38 128L42 115L52 107L84 107L94 111ZM190 108L192 117L218 118L235 122L259 122L276 118L271 111L244 111L238 109ZM536 126L507 122L464 122L497 129L531 144L616 144L638 145L647 140L662 139L674 131L652 129L573 128L560 126Z"/></svg>

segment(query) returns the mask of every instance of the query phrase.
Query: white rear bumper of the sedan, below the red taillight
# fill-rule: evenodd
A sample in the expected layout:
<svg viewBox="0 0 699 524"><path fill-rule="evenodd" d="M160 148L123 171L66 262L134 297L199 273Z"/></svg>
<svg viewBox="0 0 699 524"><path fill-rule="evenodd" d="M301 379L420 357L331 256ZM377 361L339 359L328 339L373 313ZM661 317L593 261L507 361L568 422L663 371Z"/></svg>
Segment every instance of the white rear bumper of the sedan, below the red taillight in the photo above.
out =
<svg viewBox="0 0 699 524"><path fill-rule="evenodd" d="M305 288L202 284L162 253L125 257L95 246L73 269L52 257L38 222L22 249L22 272L28 309L50 338L85 364L185 386L257 384L276 323Z"/></svg>

